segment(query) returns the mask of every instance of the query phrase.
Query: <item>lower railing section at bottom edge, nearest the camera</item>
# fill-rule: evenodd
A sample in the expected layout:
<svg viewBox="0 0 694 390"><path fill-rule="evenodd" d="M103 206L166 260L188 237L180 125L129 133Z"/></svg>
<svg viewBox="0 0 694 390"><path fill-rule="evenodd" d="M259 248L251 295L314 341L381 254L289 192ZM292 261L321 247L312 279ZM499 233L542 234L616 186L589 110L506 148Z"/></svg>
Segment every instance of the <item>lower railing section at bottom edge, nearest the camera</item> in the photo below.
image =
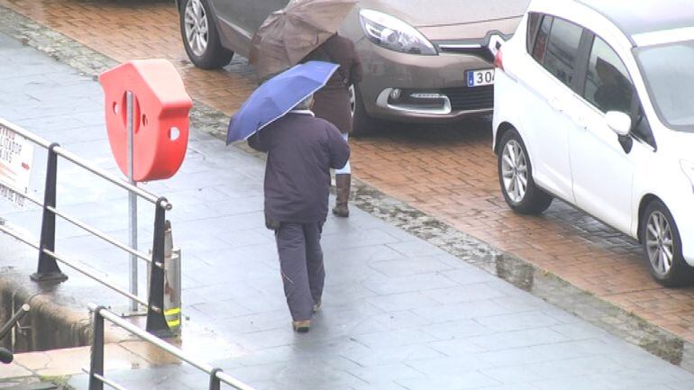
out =
<svg viewBox="0 0 694 390"><path fill-rule="evenodd" d="M245 385L233 376L229 376L222 372L219 367L212 367L210 364L198 360L196 358L191 358L187 356L182 350L174 347L164 340L160 340L157 337L152 336L146 331L133 325L130 322L124 321L117 314L109 312L103 306L96 306L96 304L89 304L89 311L93 313L93 342L92 342L92 356L91 363L89 366L89 390L103 390L104 384L109 385L118 390L126 390L122 385L118 385L114 381L107 379L104 374L104 320L108 320L114 325L123 328L125 331L129 331L135 336L141 338L142 340L150 342L152 345L163 349L169 354L185 361L187 364L196 367L197 369L205 372L210 378L209 390L219 390L221 383L233 386L233 388L239 390L254 390L250 385Z"/></svg>

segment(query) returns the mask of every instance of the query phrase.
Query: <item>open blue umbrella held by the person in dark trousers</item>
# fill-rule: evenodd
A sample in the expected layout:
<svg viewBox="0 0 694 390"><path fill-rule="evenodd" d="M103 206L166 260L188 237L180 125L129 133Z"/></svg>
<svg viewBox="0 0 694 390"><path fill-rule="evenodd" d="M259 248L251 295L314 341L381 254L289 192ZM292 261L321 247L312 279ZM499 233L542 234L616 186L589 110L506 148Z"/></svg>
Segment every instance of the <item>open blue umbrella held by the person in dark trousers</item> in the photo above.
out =
<svg viewBox="0 0 694 390"><path fill-rule="evenodd" d="M232 120L226 144L246 140L260 129L286 115L306 97L323 88L339 65L310 61L290 68L258 87Z"/></svg>

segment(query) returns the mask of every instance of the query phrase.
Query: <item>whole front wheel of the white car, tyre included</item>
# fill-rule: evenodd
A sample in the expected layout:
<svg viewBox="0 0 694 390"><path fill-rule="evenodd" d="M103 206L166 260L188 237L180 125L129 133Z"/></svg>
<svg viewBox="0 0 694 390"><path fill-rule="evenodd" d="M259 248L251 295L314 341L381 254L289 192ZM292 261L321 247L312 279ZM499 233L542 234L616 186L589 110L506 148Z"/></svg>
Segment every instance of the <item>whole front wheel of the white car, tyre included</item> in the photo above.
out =
<svg viewBox="0 0 694 390"><path fill-rule="evenodd" d="M694 268L682 256L680 231L667 206L658 199L648 204L639 231L644 257L653 278L666 287L691 284Z"/></svg>

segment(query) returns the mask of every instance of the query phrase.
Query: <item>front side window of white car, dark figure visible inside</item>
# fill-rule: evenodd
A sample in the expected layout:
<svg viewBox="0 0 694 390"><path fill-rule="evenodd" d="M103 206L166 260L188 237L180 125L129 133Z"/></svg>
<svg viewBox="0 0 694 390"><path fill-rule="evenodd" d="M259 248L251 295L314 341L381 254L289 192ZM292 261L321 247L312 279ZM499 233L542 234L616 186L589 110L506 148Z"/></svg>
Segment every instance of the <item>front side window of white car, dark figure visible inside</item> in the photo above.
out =
<svg viewBox="0 0 694 390"><path fill-rule="evenodd" d="M583 97L603 113L630 113L632 109L634 86L629 73L615 50L599 37L595 37L590 50Z"/></svg>

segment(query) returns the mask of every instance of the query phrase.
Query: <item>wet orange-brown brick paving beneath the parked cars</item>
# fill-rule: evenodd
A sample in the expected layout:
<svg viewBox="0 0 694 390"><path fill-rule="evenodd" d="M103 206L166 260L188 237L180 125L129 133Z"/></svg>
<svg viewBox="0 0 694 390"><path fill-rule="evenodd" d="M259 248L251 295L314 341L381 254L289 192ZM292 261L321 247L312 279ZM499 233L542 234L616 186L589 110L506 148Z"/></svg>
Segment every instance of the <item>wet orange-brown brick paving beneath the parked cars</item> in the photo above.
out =
<svg viewBox="0 0 694 390"><path fill-rule="evenodd" d="M178 16L169 1L0 0L0 5L116 60L171 59L191 95L224 113L232 113L254 86L244 59L234 59L223 71L193 68L182 49ZM355 172L362 180L685 340L694 340L694 289L655 284L635 241L560 202L542 217L518 216L507 209L498 190L488 124L393 127L353 141Z"/></svg>

